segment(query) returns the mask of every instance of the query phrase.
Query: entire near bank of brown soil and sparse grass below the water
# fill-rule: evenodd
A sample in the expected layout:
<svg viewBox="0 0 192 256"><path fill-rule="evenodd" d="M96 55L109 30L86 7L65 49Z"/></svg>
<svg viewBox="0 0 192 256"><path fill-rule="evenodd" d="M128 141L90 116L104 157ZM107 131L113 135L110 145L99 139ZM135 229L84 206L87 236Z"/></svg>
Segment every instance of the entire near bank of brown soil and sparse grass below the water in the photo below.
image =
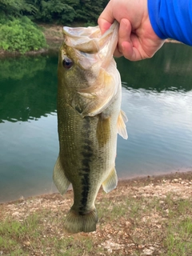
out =
<svg viewBox="0 0 192 256"><path fill-rule="evenodd" d="M0 204L0 222L8 219L10 223L14 220L29 225L28 218L38 216L35 218L40 219L39 227L34 229L42 232L43 241L49 246L39 246L40 240L33 234L20 235L18 246L27 255L82 255L79 250L89 256L191 255L192 171L120 181L109 194L100 190L96 199L99 222L97 230L89 234L66 234L63 230L72 203L72 190L64 196L55 193L21 198ZM183 233L181 223L188 225ZM58 251L54 251L55 245L49 239L61 241ZM9 252L10 249L4 249L2 255L10 255Z"/></svg>

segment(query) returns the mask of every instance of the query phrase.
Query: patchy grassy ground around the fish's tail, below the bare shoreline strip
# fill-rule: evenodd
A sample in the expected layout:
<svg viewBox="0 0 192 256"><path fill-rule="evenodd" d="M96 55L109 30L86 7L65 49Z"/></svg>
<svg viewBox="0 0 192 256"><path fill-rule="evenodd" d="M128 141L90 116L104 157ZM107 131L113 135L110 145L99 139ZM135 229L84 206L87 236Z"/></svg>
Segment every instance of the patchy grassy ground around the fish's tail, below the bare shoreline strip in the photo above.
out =
<svg viewBox="0 0 192 256"><path fill-rule="evenodd" d="M191 202L173 193L165 198L102 194L96 204L98 229L90 234L63 231L67 209L40 207L23 218L2 214L0 255L136 256L154 248L153 255L190 256Z"/></svg>

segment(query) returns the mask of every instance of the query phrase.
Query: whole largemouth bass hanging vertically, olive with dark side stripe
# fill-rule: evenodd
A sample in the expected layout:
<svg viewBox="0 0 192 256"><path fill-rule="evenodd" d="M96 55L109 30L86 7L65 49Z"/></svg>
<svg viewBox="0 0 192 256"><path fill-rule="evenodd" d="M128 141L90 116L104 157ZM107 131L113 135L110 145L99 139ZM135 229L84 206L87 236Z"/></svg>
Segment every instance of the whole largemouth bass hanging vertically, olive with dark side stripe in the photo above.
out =
<svg viewBox="0 0 192 256"><path fill-rule="evenodd" d="M53 179L61 194L73 187L74 204L63 224L69 233L95 231L98 190L102 186L108 193L118 184L118 134L127 138L121 77L113 58L118 26L115 21L104 34L98 26L63 27L58 54L59 154Z"/></svg>

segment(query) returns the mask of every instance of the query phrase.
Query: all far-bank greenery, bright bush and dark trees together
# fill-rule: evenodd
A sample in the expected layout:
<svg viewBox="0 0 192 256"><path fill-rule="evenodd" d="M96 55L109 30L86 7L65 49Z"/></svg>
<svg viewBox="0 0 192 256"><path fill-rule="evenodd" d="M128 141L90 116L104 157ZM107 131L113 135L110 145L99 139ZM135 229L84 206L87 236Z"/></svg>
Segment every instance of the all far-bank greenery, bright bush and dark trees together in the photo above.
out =
<svg viewBox="0 0 192 256"><path fill-rule="evenodd" d="M19 51L46 47L46 39L36 23L71 26L97 24L108 0L0 0L0 50Z"/></svg>

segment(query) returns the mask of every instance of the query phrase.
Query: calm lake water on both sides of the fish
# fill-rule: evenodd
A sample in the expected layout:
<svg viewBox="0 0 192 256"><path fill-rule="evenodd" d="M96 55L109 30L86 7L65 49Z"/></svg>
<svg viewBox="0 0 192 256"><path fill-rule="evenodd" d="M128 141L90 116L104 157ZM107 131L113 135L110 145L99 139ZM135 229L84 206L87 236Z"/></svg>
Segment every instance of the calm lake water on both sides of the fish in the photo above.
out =
<svg viewBox="0 0 192 256"><path fill-rule="evenodd" d="M56 191L57 54L0 59L0 202ZM154 58L118 58L128 140L118 178L192 170L192 48L167 43Z"/></svg>

